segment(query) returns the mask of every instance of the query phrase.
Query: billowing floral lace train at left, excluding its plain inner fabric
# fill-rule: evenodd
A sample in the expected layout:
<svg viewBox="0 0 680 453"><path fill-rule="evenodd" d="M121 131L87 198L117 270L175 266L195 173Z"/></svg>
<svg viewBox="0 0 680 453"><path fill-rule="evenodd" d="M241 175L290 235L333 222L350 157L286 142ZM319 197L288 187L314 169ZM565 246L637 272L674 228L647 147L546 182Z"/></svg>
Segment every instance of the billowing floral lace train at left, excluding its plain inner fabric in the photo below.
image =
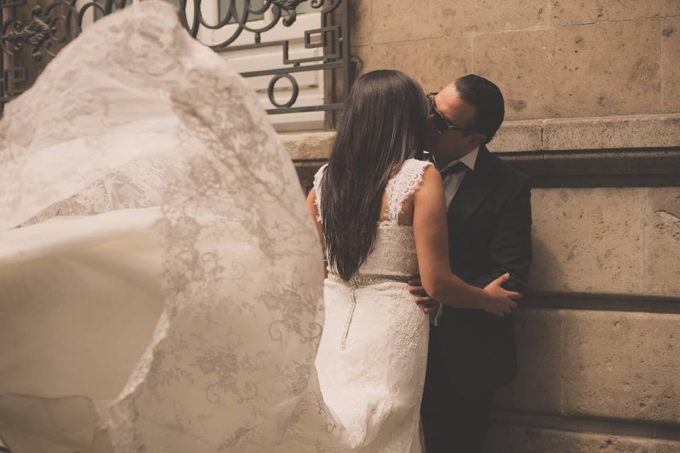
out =
<svg viewBox="0 0 680 453"><path fill-rule="evenodd" d="M0 122L0 249L17 226L119 211L155 216L165 308L115 403L30 400L83 423L43 433L55 451L269 452L300 404L327 411L322 252L295 168L251 88L161 1L86 29Z"/></svg>

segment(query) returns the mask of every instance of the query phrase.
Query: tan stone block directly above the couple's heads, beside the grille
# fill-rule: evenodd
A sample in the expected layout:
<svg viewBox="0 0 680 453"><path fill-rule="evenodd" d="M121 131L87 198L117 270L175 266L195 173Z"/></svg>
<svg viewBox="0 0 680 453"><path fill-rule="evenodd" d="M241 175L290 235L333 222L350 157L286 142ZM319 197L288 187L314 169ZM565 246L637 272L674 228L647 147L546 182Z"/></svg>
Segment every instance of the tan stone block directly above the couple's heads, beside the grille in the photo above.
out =
<svg viewBox="0 0 680 453"><path fill-rule="evenodd" d="M398 69L419 81L426 92L439 91L442 86L469 73L472 59L469 38L395 42L353 50L363 63L362 74L374 69Z"/></svg>

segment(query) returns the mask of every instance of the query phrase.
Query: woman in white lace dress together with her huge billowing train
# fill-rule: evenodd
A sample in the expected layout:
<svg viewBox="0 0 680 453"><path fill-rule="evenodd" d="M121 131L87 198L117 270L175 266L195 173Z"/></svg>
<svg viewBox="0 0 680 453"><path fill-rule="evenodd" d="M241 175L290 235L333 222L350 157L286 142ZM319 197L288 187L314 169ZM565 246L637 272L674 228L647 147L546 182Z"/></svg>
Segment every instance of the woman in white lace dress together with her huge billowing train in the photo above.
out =
<svg viewBox="0 0 680 453"><path fill-rule="evenodd" d="M455 290L444 303L513 306L497 282L438 270L446 236L419 233L444 222L438 174L406 159L424 117L371 154L389 159L354 212L361 231L337 217L342 151L365 157L346 146L351 120L339 130L309 203L324 284L254 93L170 6L136 5L85 30L0 122L2 440L14 453L419 451L428 323L404 276ZM365 77L350 104L387 84L423 107L395 76ZM344 254L348 237L362 241Z"/></svg>

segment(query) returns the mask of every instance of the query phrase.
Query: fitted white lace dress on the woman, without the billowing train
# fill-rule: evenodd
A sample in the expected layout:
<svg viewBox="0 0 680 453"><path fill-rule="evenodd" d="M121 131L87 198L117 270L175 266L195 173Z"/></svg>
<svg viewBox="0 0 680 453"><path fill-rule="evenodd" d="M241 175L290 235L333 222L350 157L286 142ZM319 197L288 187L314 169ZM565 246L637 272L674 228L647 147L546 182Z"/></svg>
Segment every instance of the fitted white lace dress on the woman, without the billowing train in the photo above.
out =
<svg viewBox="0 0 680 453"><path fill-rule="evenodd" d="M425 379L429 319L409 294L418 273L413 227L399 213L418 188L428 162L409 159L385 189L387 212L373 250L350 282L329 268L324 284L324 333L317 372L324 401L357 452L416 453ZM321 180L314 178L321 213Z"/></svg>

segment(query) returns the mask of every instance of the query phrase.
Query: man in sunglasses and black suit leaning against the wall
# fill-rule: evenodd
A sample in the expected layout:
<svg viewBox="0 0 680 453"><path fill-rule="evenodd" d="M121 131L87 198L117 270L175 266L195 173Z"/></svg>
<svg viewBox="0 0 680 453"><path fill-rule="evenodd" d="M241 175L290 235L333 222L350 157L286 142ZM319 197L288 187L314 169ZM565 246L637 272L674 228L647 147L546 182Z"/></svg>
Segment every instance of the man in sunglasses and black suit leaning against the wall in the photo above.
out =
<svg viewBox="0 0 680 453"><path fill-rule="evenodd" d="M531 263L527 177L485 146L503 122L503 96L471 74L429 98L429 151L444 183L451 270L477 287L509 273L503 286L522 292ZM409 285L419 304L434 303L419 280ZM482 452L494 389L516 374L512 316L436 311L421 406L426 453Z"/></svg>

